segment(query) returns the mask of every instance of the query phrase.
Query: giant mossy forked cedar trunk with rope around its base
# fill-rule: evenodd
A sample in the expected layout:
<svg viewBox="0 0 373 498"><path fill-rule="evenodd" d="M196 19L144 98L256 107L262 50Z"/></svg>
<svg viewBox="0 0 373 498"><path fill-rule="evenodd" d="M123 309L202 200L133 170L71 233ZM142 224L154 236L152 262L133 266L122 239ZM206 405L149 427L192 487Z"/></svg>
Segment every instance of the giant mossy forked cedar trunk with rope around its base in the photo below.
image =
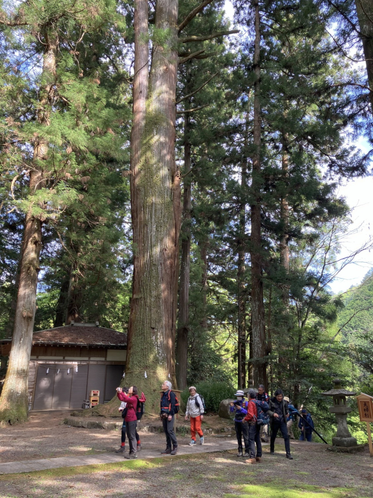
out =
<svg viewBox="0 0 373 498"><path fill-rule="evenodd" d="M158 0L148 75L148 2L135 1L135 67L131 136L134 273L125 382L146 391L157 410L165 379L176 387L175 335L181 225L175 161L178 0Z"/></svg>

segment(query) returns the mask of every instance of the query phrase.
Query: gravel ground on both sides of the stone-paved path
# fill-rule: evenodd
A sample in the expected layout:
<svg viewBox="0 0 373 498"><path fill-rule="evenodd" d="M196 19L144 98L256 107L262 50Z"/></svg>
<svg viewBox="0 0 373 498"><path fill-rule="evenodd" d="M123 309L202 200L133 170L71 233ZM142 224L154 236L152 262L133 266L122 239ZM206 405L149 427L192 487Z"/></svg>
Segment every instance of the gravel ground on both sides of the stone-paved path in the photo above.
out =
<svg viewBox="0 0 373 498"><path fill-rule="evenodd" d="M30 422L1 430L0 461L85 455L118 447L119 431L61 425L69 413L32 412ZM140 436L145 447L165 446L163 434ZM178 439L187 444L189 435ZM294 460L288 461L279 443L275 456L266 446L263 462L251 466L235 452L225 452L0 476L0 498L373 497L373 458L368 450L340 454L323 444L295 441Z"/></svg>

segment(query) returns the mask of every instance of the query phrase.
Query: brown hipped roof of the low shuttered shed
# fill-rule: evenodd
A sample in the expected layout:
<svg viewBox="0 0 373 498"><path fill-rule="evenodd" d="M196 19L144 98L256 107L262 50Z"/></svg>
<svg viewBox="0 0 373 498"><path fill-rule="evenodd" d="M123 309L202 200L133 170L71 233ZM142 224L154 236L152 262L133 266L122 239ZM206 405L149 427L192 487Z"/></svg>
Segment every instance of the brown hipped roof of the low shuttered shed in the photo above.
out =
<svg viewBox="0 0 373 498"><path fill-rule="evenodd" d="M3 339L1 342L11 341ZM127 334L98 326L66 325L54 329L39 330L32 334L32 344L64 344L82 346L127 346Z"/></svg>

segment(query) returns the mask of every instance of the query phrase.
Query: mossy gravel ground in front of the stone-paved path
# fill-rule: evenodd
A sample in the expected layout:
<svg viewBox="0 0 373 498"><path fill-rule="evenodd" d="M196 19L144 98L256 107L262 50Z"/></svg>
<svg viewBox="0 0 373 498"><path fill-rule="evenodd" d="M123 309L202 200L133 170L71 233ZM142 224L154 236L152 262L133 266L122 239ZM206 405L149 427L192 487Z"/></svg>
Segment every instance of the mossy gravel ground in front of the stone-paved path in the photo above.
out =
<svg viewBox="0 0 373 498"><path fill-rule="evenodd" d="M123 461L0 476L0 498L355 498L372 497L373 459L321 444L292 445L294 460L264 447L245 464L235 451Z"/></svg>

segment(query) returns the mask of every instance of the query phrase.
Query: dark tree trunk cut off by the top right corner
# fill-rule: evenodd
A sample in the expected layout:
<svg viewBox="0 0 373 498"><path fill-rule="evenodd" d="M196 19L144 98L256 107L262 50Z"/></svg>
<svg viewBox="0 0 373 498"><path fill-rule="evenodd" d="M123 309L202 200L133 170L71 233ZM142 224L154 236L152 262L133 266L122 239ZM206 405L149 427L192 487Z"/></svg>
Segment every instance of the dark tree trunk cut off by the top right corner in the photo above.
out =
<svg viewBox="0 0 373 498"><path fill-rule="evenodd" d="M371 112L373 113L373 2L372 0L355 0L355 4L367 64L368 82L371 89Z"/></svg>

